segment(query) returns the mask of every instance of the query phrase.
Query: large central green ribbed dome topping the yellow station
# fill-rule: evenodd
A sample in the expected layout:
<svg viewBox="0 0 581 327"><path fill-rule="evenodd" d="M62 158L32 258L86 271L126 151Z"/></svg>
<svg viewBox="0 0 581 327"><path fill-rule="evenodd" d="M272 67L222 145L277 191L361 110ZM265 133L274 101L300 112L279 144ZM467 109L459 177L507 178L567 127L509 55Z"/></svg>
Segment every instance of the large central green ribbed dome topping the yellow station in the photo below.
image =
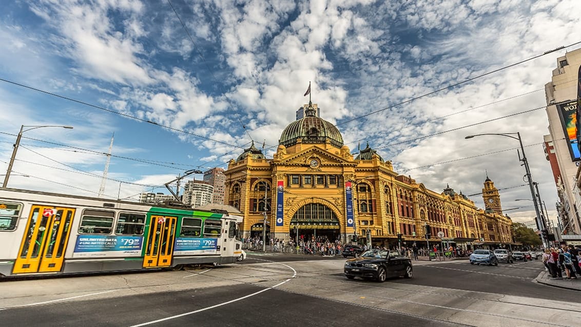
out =
<svg viewBox="0 0 581 327"><path fill-rule="evenodd" d="M305 117L290 123L284 131L278 143L284 146L296 144L297 139L303 143L325 143L327 139L337 148L343 146L343 136L335 125L320 117L315 116L313 107L305 110Z"/></svg>

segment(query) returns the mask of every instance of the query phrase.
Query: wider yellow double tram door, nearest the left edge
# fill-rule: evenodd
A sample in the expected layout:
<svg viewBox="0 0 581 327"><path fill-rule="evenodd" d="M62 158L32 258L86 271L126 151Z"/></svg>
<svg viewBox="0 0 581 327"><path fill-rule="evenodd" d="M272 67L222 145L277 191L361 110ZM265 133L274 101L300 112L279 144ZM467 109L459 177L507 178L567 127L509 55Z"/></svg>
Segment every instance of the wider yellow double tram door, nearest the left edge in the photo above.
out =
<svg viewBox="0 0 581 327"><path fill-rule="evenodd" d="M13 274L60 271L74 211L51 206L31 208Z"/></svg>

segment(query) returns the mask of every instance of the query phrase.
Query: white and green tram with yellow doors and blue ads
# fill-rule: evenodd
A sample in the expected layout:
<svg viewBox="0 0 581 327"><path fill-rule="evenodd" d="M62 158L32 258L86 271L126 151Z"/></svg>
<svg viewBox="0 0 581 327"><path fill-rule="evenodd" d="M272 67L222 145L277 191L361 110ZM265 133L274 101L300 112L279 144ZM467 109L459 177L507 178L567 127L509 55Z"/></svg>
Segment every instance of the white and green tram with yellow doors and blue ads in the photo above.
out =
<svg viewBox="0 0 581 327"><path fill-rule="evenodd" d="M241 215L0 189L0 276L229 264Z"/></svg>

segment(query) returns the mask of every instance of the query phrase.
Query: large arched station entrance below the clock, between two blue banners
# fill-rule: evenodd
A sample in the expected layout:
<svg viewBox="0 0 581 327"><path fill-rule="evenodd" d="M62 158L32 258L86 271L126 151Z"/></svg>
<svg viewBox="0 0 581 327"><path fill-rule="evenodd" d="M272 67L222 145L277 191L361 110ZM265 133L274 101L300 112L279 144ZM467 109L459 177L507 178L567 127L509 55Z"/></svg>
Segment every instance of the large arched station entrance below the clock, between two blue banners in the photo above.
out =
<svg viewBox="0 0 581 327"><path fill-rule="evenodd" d="M340 224L329 207L320 203L307 203L300 207L290 220L289 236L293 240L340 239ZM298 237L297 237L298 236Z"/></svg>

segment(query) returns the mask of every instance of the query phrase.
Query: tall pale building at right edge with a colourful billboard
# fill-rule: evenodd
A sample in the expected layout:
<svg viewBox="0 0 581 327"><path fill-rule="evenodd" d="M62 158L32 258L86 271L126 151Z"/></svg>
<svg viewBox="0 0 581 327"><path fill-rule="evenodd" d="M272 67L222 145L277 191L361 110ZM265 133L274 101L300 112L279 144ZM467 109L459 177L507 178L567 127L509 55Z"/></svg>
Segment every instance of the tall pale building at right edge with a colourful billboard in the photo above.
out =
<svg viewBox="0 0 581 327"><path fill-rule="evenodd" d="M566 53L557 58L557 68L553 70L553 78L545 85L547 99L548 130L545 142L550 142L548 159L552 154L557 166L551 161L553 175L560 203L557 205L562 231L566 233L581 233L581 218L579 210L579 154L576 136L576 109L578 98L579 69L581 66L581 49Z"/></svg>

